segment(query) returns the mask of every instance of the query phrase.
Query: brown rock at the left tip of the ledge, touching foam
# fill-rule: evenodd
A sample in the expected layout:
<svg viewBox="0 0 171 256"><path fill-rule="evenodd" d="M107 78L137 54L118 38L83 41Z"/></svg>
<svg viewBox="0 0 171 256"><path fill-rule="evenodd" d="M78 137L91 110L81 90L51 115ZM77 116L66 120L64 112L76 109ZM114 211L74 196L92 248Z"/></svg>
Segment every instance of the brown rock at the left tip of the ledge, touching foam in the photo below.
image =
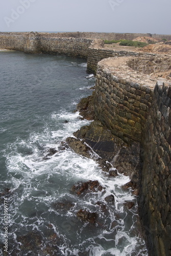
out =
<svg viewBox="0 0 171 256"><path fill-rule="evenodd" d="M68 137L66 139L66 143L74 150L77 154L90 158L91 157L91 149L83 141Z"/></svg>

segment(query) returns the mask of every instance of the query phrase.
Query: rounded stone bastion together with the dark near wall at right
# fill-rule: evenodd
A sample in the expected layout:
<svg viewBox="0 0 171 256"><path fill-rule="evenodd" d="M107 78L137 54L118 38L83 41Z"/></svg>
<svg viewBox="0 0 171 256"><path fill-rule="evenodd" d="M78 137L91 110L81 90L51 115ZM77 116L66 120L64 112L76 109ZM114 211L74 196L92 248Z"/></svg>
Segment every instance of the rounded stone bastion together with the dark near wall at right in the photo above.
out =
<svg viewBox="0 0 171 256"><path fill-rule="evenodd" d="M110 63L112 59L116 62L114 69L114 62ZM139 211L146 244L149 256L169 256L171 83L163 79L156 83L153 77L148 80L145 75L143 79L139 73L128 70L128 66L124 69L124 63L130 63L131 58L120 62L116 58L106 60L100 61L97 68L95 115L114 135L128 143L141 143L143 167ZM117 65L121 66L120 70ZM128 77L130 71L131 77Z"/></svg>

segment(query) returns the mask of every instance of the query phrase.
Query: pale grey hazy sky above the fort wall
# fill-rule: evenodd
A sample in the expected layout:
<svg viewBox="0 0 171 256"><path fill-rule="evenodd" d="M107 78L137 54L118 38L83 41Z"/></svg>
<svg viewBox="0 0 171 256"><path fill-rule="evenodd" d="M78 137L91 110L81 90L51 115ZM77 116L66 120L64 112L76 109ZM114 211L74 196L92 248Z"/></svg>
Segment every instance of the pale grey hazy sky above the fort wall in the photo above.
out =
<svg viewBox="0 0 171 256"><path fill-rule="evenodd" d="M171 0L3 0L0 31L171 34Z"/></svg>

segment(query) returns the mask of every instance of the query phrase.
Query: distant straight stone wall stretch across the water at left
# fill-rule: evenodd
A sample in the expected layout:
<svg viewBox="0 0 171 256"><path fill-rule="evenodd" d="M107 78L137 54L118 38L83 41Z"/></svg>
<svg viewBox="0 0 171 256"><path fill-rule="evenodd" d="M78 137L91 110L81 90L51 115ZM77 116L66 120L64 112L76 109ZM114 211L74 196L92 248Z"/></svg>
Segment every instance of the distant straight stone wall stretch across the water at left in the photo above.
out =
<svg viewBox="0 0 171 256"><path fill-rule="evenodd" d="M64 54L87 59L92 39L42 37L39 33L0 35L0 48L26 53Z"/></svg>

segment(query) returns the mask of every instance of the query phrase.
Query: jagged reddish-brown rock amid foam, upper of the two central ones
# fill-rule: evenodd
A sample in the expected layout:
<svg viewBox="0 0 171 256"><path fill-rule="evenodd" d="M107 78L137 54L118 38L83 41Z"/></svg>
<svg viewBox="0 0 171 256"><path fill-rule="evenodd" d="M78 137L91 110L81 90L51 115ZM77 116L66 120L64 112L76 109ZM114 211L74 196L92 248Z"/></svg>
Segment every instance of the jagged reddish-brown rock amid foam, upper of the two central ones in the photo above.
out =
<svg viewBox="0 0 171 256"><path fill-rule="evenodd" d="M97 192L102 191L103 187L100 185L99 181L87 181L87 182L79 182L77 185L72 186L71 190L76 192L78 196L83 194L84 192Z"/></svg>

